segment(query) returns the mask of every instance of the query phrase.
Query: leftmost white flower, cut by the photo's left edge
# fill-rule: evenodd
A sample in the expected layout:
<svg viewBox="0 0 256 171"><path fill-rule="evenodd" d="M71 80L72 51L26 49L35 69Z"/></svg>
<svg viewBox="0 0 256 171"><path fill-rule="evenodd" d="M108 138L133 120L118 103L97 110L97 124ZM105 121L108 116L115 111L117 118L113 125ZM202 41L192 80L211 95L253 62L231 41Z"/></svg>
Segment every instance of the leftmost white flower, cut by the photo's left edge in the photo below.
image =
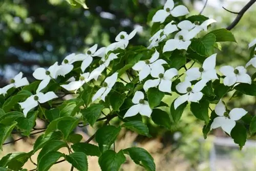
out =
<svg viewBox="0 0 256 171"><path fill-rule="evenodd" d="M13 79L11 79L11 83L8 84L7 86L0 88L0 95L6 95L7 91L11 88L19 88L19 87L23 87L29 84L29 81L26 77L22 77L23 73L20 72L18 73Z"/></svg>

